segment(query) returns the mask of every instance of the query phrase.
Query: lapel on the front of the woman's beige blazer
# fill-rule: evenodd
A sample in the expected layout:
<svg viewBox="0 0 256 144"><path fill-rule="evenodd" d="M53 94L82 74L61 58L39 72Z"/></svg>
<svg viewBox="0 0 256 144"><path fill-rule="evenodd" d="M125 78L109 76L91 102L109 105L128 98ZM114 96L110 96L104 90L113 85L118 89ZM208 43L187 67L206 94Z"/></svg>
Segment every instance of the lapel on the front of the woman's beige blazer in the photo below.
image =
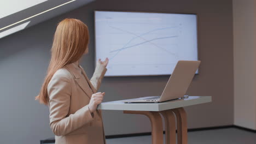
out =
<svg viewBox="0 0 256 144"><path fill-rule="evenodd" d="M78 67L76 67L73 63L67 64L66 68L74 75L75 82L78 83L79 87L86 93L86 95L89 97L89 99L91 99L91 95L93 94L93 91L92 91L92 89L85 87L86 86L86 83L85 83L86 81L84 81L82 79L82 77L81 77L82 74L80 74L80 69ZM82 69L82 73L84 73L83 69ZM86 79L86 76L85 76L85 79Z"/></svg>

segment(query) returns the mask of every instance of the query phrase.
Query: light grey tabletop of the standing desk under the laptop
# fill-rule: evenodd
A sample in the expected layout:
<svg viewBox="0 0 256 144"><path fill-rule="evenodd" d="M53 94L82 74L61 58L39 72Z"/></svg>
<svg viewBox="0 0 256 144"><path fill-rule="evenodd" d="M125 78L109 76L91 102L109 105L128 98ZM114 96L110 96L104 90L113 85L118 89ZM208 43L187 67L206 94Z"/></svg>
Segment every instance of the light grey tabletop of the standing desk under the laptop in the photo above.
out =
<svg viewBox="0 0 256 144"><path fill-rule="evenodd" d="M168 100L161 103L124 103L122 100L108 101L98 105L99 110L126 111L164 111L178 107L209 103L211 96L189 96L188 98Z"/></svg>

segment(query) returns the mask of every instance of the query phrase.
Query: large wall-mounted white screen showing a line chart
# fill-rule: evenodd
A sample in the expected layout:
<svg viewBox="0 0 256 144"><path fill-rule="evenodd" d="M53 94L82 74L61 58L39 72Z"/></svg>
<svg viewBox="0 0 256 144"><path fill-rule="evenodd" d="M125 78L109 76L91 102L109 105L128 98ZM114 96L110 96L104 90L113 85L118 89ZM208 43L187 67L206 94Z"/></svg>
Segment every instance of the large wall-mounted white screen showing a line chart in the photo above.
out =
<svg viewBox="0 0 256 144"><path fill-rule="evenodd" d="M197 16L95 11L95 41L105 76L170 75L179 60L198 60Z"/></svg>

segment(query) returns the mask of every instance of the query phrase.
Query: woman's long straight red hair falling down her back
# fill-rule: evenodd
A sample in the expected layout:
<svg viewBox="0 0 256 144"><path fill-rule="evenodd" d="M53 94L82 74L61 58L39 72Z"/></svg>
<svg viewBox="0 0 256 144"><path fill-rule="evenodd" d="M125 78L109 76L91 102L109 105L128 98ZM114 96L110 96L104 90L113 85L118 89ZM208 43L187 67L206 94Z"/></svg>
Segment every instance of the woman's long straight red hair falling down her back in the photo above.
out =
<svg viewBox="0 0 256 144"><path fill-rule="evenodd" d="M36 100L48 105L47 86L51 77L58 69L78 61L87 49L88 43L89 31L85 23L77 19L64 19L58 23L51 47L51 60L47 75Z"/></svg>

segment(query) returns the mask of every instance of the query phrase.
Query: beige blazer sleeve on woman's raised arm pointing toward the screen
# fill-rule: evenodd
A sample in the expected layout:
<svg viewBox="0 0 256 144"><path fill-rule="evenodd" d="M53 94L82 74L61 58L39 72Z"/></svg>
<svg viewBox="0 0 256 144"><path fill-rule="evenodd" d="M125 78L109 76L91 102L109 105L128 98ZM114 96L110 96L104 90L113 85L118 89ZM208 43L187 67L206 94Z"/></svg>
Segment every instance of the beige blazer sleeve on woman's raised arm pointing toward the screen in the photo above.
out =
<svg viewBox="0 0 256 144"><path fill-rule="evenodd" d="M106 71L107 71L107 68L104 65L102 65L102 64L96 65L94 74L92 75L91 80L90 80L92 85L96 89L96 91L98 91L98 88L100 88L101 81L102 81Z"/></svg>

